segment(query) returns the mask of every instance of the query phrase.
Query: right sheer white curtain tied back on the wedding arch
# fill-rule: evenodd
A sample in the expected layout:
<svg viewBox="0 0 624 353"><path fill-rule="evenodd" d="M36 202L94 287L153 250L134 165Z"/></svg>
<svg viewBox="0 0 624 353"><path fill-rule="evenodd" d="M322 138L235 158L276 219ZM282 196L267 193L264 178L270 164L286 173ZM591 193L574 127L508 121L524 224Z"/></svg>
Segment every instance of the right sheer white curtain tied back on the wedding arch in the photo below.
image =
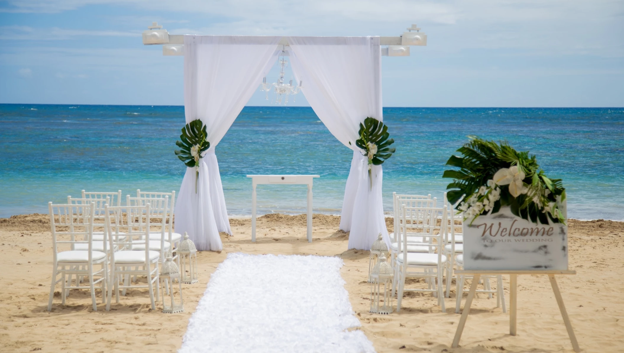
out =
<svg viewBox="0 0 624 353"><path fill-rule="evenodd" d="M359 123L383 121L379 37L288 37L297 81L316 115L340 142L353 149L344 190L340 229L350 231L349 249L371 249L381 232L389 243L381 198L383 171L355 146Z"/></svg>

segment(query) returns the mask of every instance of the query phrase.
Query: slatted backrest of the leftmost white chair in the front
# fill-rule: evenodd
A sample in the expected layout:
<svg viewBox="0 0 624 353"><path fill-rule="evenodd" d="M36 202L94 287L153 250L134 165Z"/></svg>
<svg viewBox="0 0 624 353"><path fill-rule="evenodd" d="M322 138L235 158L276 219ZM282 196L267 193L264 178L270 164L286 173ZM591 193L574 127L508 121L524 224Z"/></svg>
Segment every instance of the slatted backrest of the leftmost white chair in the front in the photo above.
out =
<svg viewBox="0 0 624 353"><path fill-rule="evenodd" d="M91 262L95 204L55 205L48 202L47 206L52 228L54 262L56 263L59 252L74 250L76 244L89 244L89 262ZM105 247L104 251L106 251Z"/></svg>

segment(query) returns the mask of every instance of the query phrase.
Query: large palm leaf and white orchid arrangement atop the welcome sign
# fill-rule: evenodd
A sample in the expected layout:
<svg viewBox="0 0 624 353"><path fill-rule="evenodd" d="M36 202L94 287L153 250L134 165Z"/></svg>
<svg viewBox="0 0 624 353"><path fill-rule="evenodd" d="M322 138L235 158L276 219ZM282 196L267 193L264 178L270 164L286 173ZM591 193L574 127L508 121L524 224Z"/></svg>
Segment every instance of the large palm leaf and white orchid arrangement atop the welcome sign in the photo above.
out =
<svg viewBox="0 0 624 353"><path fill-rule="evenodd" d="M447 189L451 204L464 212L464 220L509 206L515 216L537 223L565 224L560 205L565 200L561 179L549 179L529 151L515 151L507 142L496 143L469 136L470 141L457 149L463 156L451 156L447 165L457 170L444 171L442 177L454 179Z"/></svg>

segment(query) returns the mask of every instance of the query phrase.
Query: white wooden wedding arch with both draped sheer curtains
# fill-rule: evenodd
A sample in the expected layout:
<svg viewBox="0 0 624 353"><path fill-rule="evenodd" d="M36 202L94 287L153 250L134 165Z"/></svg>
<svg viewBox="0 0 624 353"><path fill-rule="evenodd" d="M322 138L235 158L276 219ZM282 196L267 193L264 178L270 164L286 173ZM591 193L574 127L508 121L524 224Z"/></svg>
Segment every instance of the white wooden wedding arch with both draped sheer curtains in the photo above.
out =
<svg viewBox="0 0 624 353"><path fill-rule="evenodd" d="M416 25L401 37L170 36L155 22L144 44L165 44L163 53L184 56L186 122L207 126L208 149L195 168L187 167L175 207L175 231L188 232L200 250L222 249L219 232L232 234L215 147L285 51L296 82L310 106L344 146L353 150L344 190L340 229L351 232L349 249L370 249L378 234L389 241L383 214L383 169L356 147L359 123L383 121L381 56L409 55L409 45L426 45ZM389 45L382 48L381 45Z"/></svg>

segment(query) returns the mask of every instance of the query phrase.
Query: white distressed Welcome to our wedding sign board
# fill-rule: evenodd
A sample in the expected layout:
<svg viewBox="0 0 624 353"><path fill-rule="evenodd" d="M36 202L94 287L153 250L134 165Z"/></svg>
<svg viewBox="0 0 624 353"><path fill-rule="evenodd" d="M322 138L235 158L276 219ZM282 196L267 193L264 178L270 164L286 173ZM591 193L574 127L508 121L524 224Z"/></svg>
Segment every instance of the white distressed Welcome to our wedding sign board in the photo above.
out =
<svg viewBox="0 0 624 353"><path fill-rule="evenodd" d="M560 207L565 216L565 201ZM566 217L567 218L567 217ZM509 207L464 222L466 270L567 270L568 227L536 224Z"/></svg>

